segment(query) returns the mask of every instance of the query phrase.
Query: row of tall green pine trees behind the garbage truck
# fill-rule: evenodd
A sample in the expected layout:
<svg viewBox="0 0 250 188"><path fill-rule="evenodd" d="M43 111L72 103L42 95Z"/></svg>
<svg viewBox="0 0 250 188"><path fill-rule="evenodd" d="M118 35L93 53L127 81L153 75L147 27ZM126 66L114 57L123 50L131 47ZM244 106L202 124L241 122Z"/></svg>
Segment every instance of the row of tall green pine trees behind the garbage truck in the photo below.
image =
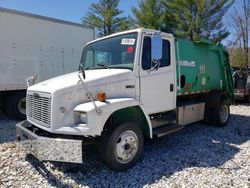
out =
<svg viewBox="0 0 250 188"><path fill-rule="evenodd" d="M172 33L178 38L218 43L233 32L236 34L231 37L229 46L244 49L240 57L244 56L246 65L249 61L250 0L241 1L243 3L234 5L234 0L139 0L137 7L131 7L133 17L125 17L119 9L120 0L99 0L90 5L82 22L96 27L98 36L144 27ZM229 8L233 8L230 28L223 20ZM239 54L236 51L231 50L231 53Z"/></svg>

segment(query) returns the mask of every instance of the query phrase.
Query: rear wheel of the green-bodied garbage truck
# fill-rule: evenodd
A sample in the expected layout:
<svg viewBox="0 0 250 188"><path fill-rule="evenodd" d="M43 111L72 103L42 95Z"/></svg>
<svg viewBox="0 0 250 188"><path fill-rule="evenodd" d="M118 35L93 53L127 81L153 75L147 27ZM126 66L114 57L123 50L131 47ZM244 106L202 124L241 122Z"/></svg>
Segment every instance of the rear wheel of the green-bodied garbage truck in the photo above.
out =
<svg viewBox="0 0 250 188"><path fill-rule="evenodd" d="M212 112L213 125L224 127L227 125L230 115L229 104L226 100L222 100Z"/></svg>

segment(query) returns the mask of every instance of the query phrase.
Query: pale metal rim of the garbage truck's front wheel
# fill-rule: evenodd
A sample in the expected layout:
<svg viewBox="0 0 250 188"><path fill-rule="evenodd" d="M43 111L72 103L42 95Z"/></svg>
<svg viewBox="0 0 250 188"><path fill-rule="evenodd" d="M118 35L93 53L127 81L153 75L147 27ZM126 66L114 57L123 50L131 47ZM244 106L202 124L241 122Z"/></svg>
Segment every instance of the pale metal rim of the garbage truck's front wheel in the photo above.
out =
<svg viewBox="0 0 250 188"><path fill-rule="evenodd" d="M123 132L116 141L115 157L119 163L132 161L139 148L138 137L133 131Z"/></svg>

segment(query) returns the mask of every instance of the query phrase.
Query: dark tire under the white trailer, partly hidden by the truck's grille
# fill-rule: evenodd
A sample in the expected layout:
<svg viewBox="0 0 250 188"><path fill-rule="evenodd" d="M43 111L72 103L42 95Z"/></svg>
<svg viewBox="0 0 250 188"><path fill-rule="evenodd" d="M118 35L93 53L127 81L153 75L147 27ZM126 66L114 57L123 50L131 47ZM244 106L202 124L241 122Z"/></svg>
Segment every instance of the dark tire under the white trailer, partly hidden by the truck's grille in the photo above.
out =
<svg viewBox="0 0 250 188"><path fill-rule="evenodd" d="M26 118L26 91L10 93L5 101L7 114L14 119Z"/></svg>

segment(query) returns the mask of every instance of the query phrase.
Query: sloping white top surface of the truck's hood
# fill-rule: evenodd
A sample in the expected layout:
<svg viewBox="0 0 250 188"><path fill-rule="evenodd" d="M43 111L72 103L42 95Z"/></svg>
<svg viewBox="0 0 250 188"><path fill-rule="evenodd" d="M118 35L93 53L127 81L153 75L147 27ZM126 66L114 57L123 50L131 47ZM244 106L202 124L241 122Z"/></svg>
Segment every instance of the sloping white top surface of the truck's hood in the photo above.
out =
<svg viewBox="0 0 250 188"><path fill-rule="evenodd" d="M105 85L110 82L119 82L132 78L132 71L128 69L95 69L86 70L86 78L84 82L88 87ZM72 88L79 81L78 72L55 77L33 86L30 86L30 91L40 91L46 93L54 93L61 89Z"/></svg>

